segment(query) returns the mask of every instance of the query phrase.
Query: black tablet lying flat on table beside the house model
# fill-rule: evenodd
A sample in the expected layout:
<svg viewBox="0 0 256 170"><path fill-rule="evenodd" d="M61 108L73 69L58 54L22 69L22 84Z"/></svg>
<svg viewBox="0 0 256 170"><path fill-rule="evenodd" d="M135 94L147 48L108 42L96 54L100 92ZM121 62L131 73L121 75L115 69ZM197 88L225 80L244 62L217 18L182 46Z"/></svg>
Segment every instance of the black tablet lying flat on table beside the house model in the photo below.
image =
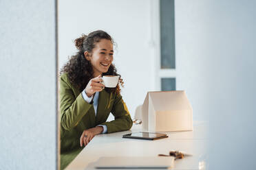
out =
<svg viewBox="0 0 256 170"><path fill-rule="evenodd" d="M151 132L136 132L131 134L124 134L122 138L138 138L138 139L145 139L145 140L156 140L160 138L167 138L167 134L158 134L158 133L151 133Z"/></svg>

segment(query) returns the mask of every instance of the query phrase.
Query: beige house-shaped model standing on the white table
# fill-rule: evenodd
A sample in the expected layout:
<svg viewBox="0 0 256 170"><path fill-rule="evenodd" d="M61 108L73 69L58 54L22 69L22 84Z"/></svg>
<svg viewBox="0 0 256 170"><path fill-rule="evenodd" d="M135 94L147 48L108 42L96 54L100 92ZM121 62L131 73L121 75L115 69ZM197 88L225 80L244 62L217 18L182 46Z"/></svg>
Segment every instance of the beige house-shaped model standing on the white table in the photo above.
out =
<svg viewBox="0 0 256 170"><path fill-rule="evenodd" d="M148 92L142 105L142 129L148 132L193 130L193 110L186 93Z"/></svg>

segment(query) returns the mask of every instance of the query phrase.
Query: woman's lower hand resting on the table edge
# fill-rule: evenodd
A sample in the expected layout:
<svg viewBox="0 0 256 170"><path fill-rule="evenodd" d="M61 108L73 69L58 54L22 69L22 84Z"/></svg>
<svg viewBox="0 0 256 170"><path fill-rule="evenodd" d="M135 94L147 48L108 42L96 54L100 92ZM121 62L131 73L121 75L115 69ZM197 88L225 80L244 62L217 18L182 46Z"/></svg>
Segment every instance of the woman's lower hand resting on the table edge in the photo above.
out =
<svg viewBox="0 0 256 170"><path fill-rule="evenodd" d="M84 130L83 134L80 137L80 146L82 147L83 145L87 145L89 143L89 141L92 141L92 138L94 138L94 136L96 134L101 134L103 132L103 127L102 126L96 126L96 127L92 127L88 130Z"/></svg>

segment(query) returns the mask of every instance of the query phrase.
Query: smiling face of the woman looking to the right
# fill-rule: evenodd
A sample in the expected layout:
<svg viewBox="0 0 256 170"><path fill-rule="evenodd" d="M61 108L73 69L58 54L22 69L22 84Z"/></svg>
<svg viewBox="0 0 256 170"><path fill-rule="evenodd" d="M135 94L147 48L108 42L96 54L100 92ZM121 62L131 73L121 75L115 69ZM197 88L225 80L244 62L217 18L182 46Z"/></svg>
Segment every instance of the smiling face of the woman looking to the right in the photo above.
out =
<svg viewBox="0 0 256 170"><path fill-rule="evenodd" d="M85 58L92 64L94 70L94 77L102 73L106 73L109 69L110 64L113 61L113 44L110 40L101 39L95 43L92 53L85 51Z"/></svg>

